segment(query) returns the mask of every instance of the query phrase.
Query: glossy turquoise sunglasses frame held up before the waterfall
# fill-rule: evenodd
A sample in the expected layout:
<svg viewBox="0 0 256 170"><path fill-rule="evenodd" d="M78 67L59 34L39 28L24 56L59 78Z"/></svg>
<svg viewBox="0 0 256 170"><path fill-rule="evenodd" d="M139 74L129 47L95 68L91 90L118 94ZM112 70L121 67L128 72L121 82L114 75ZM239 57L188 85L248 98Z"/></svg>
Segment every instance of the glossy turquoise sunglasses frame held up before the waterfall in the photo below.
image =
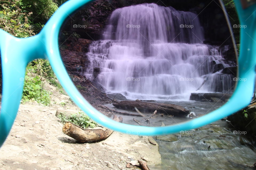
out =
<svg viewBox="0 0 256 170"><path fill-rule="evenodd" d="M71 99L97 123L129 134L166 135L181 130L195 129L227 117L244 108L251 101L254 92L256 64L256 1L234 0L241 25L241 50L238 58L238 81L230 100L221 108L187 122L165 127L144 127L122 124L111 120L92 107L79 93L63 65L59 52L58 35L65 20L77 9L91 0L70 0L63 4L51 17L42 31L33 37L19 39L0 29L3 93L0 115L0 146L2 146L14 123L22 97L26 66L29 62L43 58L50 64L62 87ZM221 3L224 9L223 4ZM229 25L230 26L230 25ZM12 47L15 48L12 49Z"/></svg>

